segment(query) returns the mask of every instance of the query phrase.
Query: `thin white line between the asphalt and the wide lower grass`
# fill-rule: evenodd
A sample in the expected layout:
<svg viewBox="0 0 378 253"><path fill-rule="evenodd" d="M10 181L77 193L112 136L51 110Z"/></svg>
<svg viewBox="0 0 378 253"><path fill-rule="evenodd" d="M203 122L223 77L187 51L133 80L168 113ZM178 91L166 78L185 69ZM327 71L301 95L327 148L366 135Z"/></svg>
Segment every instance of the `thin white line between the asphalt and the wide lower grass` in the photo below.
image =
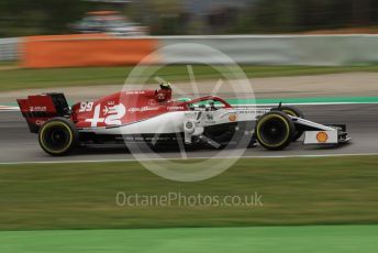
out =
<svg viewBox="0 0 378 253"><path fill-rule="evenodd" d="M315 158L315 157L344 157L344 156L374 156L378 153L362 154L320 154L320 155L248 155L248 156L227 156L211 157L198 156L188 157L188 160L225 160L225 158ZM37 161L37 162L0 162L0 165L22 165L22 164L76 164L76 163L119 163L119 162L149 162L149 161L181 161L184 158L146 158L146 160L78 160L78 161Z"/></svg>

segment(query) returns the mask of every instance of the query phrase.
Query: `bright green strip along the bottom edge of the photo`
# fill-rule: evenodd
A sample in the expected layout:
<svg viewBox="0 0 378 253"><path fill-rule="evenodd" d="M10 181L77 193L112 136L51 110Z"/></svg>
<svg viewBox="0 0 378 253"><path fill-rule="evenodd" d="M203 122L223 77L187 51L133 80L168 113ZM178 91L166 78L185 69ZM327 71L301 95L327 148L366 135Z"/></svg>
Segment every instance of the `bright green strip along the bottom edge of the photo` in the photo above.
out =
<svg viewBox="0 0 378 253"><path fill-rule="evenodd" d="M377 252L377 226L0 232L1 252Z"/></svg>

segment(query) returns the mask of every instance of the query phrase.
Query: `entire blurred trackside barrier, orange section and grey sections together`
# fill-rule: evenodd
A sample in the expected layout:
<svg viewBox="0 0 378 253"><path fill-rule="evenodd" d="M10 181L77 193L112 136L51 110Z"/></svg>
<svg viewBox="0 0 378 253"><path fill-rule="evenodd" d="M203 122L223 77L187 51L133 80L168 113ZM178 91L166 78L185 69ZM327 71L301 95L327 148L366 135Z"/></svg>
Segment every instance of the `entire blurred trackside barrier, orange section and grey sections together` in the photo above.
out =
<svg viewBox="0 0 378 253"><path fill-rule="evenodd" d="M169 45L187 44L177 51ZM378 63L378 35L209 35L111 37L97 35L37 36L0 40L0 59L23 67L136 65L160 50L149 64L208 63L193 54L208 45L238 64L341 66ZM163 48L163 50L162 50Z"/></svg>

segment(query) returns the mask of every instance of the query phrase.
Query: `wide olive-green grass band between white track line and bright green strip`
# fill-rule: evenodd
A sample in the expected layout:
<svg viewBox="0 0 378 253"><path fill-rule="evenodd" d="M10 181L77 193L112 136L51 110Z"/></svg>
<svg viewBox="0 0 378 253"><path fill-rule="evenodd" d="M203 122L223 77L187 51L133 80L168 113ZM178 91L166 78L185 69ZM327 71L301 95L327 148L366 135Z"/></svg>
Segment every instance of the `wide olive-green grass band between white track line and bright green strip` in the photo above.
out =
<svg viewBox="0 0 378 253"><path fill-rule="evenodd" d="M377 165L378 156L243 158L197 183L166 180L136 162L1 165L0 230L378 223ZM120 207L118 191L257 191L264 206Z"/></svg>

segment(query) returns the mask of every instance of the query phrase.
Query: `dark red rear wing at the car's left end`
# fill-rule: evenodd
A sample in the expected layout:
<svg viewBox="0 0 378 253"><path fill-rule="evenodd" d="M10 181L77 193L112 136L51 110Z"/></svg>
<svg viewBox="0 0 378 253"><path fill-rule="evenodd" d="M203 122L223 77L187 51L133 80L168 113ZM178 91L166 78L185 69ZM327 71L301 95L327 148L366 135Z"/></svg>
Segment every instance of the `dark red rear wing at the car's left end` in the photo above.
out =
<svg viewBox="0 0 378 253"><path fill-rule="evenodd" d="M64 94L43 94L16 100L32 133L54 117L69 117L70 109Z"/></svg>

